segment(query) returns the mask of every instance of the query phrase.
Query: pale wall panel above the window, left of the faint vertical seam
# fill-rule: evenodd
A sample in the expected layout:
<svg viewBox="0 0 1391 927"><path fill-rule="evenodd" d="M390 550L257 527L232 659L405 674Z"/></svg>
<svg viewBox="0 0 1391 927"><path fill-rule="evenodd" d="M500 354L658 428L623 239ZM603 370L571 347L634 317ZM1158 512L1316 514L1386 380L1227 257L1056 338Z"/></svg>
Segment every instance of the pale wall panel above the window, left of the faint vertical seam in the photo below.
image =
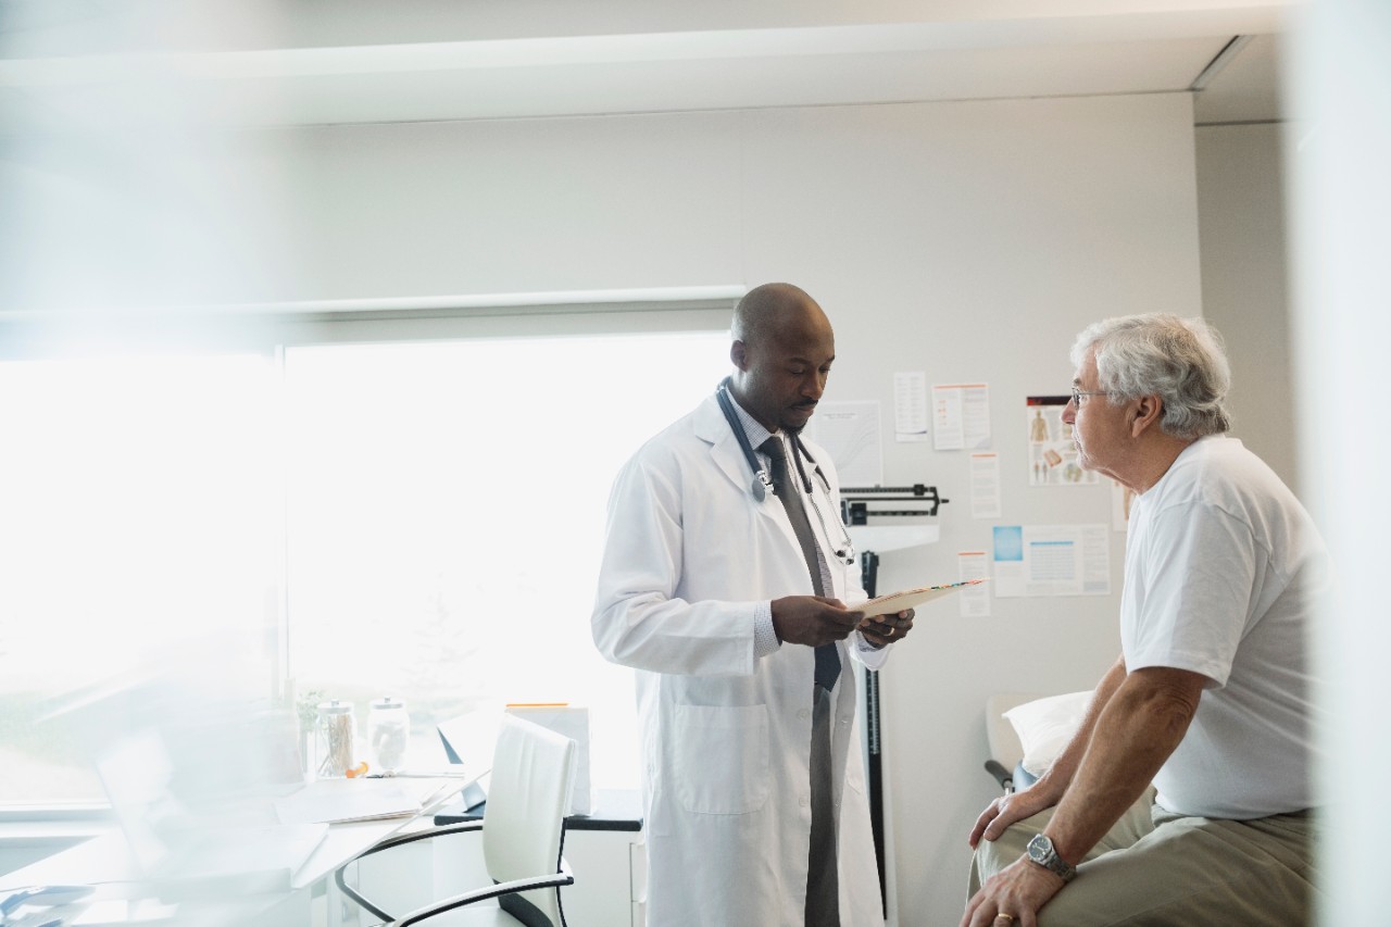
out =
<svg viewBox="0 0 1391 927"><path fill-rule="evenodd" d="M737 114L328 127L298 166L303 298L740 283Z"/></svg>

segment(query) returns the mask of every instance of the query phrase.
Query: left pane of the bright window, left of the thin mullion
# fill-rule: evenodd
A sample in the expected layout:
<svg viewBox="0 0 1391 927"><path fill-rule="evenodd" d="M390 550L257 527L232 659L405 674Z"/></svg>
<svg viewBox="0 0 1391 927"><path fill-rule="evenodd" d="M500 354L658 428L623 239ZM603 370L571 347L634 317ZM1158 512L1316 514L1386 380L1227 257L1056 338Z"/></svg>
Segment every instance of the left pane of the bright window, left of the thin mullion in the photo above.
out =
<svg viewBox="0 0 1391 927"><path fill-rule="evenodd" d="M113 738L271 690L273 370L0 363L0 803L102 800Z"/></svg>

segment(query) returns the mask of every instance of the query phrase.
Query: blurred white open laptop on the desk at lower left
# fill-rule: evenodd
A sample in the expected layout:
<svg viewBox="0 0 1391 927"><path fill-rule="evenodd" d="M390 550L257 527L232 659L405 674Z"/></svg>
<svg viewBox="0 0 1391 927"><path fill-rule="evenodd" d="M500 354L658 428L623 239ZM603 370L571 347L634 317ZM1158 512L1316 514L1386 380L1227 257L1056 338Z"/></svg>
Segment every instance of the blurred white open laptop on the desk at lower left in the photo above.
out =
<svg viewBox="0 0 1391 927"><path fill-rule="evenodd" d="M138 876L161 898L288 892L328 834L327 824L278 823L270 796L185 806L153 731L128 738L96 766Z"/></svg>

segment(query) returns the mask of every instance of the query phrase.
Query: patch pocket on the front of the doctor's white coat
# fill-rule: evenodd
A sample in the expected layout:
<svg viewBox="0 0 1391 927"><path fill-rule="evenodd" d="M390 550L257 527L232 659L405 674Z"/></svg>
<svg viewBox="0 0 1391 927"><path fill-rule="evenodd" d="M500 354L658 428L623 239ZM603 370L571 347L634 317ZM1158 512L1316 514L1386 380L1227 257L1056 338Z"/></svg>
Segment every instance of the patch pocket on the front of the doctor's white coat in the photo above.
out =
<svg viewBox="0 0 1391 927"><path fill-rule="evenodd" d="M693 814L747 814L768 802L768 708L676 706L676 793Z"/></svg>

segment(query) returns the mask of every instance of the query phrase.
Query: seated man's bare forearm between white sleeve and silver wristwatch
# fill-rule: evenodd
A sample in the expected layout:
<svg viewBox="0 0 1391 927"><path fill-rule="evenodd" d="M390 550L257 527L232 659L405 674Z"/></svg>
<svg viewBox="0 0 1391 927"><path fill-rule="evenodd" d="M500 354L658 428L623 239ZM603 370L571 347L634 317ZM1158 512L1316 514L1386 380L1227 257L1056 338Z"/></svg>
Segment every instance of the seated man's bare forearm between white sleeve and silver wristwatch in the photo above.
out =
<svg viewBox="0 0 1391 927"><path fill-rule="evenodd" d="M1143 795L1184 739L1202 697L1203 676L1193 672L1121 672L1046 828L1059 855L1074 864Z"/></svg>

